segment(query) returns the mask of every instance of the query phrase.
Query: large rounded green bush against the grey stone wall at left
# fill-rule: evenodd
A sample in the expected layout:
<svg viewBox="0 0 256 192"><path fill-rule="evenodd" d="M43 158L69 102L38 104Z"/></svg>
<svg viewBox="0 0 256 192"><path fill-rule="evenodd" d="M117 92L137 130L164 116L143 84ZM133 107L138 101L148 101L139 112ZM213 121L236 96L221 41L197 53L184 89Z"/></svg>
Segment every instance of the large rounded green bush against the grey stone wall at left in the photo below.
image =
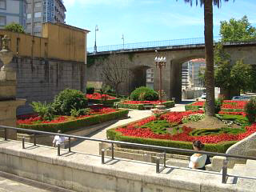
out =
<svg viewBox="0 0 256 192"><path fill-rule="evenodd" d="M72 109L80 110L86 108L87 99L80 90L66 89L55 96L52 106L54 114L70 116Z"/></svg>

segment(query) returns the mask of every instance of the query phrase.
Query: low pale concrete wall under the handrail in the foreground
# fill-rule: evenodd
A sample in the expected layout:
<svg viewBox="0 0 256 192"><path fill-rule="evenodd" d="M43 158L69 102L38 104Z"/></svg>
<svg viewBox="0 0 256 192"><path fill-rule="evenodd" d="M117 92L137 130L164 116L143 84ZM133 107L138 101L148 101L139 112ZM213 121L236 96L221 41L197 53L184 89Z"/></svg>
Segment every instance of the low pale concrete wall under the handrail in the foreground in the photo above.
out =
<svg viewBox="0 0 256 192"><path fill-rule="evenodd" d="M30 146L29 146L30 145ZM229 178L222 184L222 175L172 166L155 173L155 165L115 159L102 165L101 157L68 153L56 148L33 146L21 142L1 142L0 170L24 178L49 183L76 191L91 192L249 192L255 181L248 178Z"/></svg>

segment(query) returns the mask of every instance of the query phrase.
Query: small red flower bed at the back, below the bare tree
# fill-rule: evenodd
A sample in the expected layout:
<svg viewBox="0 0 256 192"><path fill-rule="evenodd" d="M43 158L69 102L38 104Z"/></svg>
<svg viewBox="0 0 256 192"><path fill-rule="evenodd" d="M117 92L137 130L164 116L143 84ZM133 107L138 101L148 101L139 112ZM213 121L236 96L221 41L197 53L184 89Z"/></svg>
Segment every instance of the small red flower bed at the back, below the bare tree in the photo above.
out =
<svg viewBox="0 0 256 192"><path fill-rule="evenodd" d="M114 102L119 102L119 98L112 97L108 94L99 94L99 93L94 93L94 94L86 94L86 98L90 102L94 103L102 103L106 106L113 106Z"/></svg>

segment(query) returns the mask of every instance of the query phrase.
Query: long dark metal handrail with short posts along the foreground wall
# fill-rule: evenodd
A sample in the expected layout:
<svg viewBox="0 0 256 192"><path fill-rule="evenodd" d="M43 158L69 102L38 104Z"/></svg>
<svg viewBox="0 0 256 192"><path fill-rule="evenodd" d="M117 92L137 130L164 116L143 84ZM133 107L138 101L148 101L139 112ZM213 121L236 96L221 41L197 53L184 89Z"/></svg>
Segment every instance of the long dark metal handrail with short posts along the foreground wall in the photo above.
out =
<svg viewBox="0 0 256 192"><path fill-rule="evenodd" d="M111 149L111 159L114 159L114 144L121 144L121 145L126 145L126 146L137 146L141 148L150 148L154 150L162 150L163 153L162 155L164 156L164 165L162 169L160 170L160 158L157 158L156 161L156 172L161 173L161 171L166 167L166 151L175 151L175 152L186 152L186 153L195 153L197 152L196 150L185 150L185 149L180 149L180 148L174 148L174 147L166 147L166 146L151 146L151 145L144 145L144 144L138 144L138 143L132 143L132 142L118 142L118 141L112 141L112 140L107 140L107 139L99 139L99 138L87 138L87 137L82 137L82 136L76 136L76 135L70 135L70 134L57 134L57 133L50 133L46 131L40 131L40 130L27 130L27 129L22 129L22 128L17 128L17 127L10 127L10 126L0 126L0 129L4 129L4 135L5 135L5 140L7 140L7 130L19 130L22 132L26 133L32 133L34 134L34 145L36 145L36 135L38 134L48 134L48 135L59 135L59 136L64 136L69 138L69 152L71 151L71 146L70 146L70 138L79 138L82 140L88 140L88 141L94 141L94 142L106 142L110 143L110 149ZM25 148L25 138L22 138L22 149ZM106 164L104 161L104 152L105 150L102 150L102 164ZM216 153L216 152L209 152L209 151L202 151L200 150L200 154L207 154L210 156L222 156L226 158L242 158L242 159L250 159L250 160L256 160L256 157L252 156L245 156L245 155L234 155L234 154L221 154L221 153ZM61 156L60 154L60 145L58 145L58 156ZM110 161L107 161L110 162ZM224 161L224 165L222 167L222 183L226 183L226 176L227 176L227 160Z"/></svg>

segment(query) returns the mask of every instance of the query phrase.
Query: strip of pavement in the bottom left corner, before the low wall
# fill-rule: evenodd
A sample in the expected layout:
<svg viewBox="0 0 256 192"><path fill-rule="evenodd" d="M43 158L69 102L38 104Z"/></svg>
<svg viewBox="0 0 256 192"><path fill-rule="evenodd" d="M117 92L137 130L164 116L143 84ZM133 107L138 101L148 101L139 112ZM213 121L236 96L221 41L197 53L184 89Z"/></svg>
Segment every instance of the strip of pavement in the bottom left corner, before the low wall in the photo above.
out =
<svg viewBox="0 0 256 192"><path fill-rule="evenodd" d="M0 171L0 192L72 192Z"/></svg>

